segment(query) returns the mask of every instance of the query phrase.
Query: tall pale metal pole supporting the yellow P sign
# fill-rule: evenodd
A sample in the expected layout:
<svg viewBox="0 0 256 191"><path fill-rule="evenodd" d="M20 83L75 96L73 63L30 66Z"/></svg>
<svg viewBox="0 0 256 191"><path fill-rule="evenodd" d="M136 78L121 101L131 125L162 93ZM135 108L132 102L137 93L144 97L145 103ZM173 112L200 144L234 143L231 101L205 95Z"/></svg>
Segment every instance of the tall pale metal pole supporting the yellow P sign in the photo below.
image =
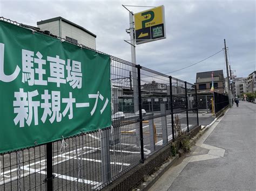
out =
<svg viewBox="0 0 256 191"><path fill-rule="evenodd" d="M132 55L132 63L136 65L136 51L135 51L135 39L134 39L134 20L133 20L133 12L129 12L129 20L130 20L130 39L131 39L131 55ZM132 67L132 86L133 86L133 99L134 99L134 112L139 110L139 102L138 102L138 77L137 77L137 69Z"/></svg>

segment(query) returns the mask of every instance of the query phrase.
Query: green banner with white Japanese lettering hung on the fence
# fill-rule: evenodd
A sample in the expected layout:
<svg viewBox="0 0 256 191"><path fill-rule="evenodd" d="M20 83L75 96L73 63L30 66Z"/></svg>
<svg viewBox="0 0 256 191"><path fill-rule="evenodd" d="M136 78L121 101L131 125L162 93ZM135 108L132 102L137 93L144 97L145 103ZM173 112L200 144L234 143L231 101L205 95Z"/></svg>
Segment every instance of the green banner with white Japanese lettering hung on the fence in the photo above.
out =
<svg viewBox="0 0 256 191"><path fill-rule="evenodd" d="M0 21L0 122L0 153L110 126L110 56Z"/></svg>

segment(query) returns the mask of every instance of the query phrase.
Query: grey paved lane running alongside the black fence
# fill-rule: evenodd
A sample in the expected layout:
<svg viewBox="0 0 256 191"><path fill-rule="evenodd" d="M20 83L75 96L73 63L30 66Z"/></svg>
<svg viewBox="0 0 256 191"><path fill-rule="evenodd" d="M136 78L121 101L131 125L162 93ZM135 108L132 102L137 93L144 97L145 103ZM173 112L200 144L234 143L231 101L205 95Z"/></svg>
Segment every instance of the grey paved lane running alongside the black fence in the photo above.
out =
<svg viewBox="0 0 256 191"><path fill-rule="evenodd" d="M256 105L230 108L150 190L255 190Z"/></svg>

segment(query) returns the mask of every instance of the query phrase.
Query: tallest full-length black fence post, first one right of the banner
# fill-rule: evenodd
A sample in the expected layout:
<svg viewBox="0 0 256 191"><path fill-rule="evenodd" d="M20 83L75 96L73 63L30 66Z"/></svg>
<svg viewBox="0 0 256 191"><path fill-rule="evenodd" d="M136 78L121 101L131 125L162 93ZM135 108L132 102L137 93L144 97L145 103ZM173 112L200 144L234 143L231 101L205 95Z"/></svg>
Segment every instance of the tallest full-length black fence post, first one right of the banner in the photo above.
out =
<svg viewBox="0 0 256 191"><path fill-rule="evenodd" d="M143 124L142 124L142 90L140 87L140 65L136 65L138 69L138 96L139 96L139 135L140 135L140 154L141 162L144 163L144 143L143 143Z"/></svg>

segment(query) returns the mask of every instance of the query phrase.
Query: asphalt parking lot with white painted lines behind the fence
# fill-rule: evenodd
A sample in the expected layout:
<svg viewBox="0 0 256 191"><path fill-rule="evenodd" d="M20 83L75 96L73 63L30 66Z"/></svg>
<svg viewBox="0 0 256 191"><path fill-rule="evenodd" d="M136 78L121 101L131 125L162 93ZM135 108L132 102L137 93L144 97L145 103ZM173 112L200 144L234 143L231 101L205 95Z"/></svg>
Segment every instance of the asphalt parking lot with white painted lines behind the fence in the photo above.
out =
<svg viewBox="0 0 256 191"><path fill-rule="evenodd" d="M186 112L177 114L181 128L186 130ZM153 124L156 128L156 140L152 149L152 134L150 134L149 122L143 123L144 156L149 157L154 151L163 147L162 122L164 118L154 118ZM208 125L214 118L211 114L199 112L199 124ZM196 113L188 114L188 126L192 128L197 124ZM172 139L171 115L166 116L168 141ZM140 161L139 123L123 125L119 127L119 140L116 140L116 129L109 130L110 143L110 168L109 172L102 171L104 168L100 142L102 132L86 134L83 136L66 139L67 146L61 147L61 142L53 144L53 179L55 188L60 190L76 190L85 187L86 190L96 189L100 186L102 179L125 172ZM111 133L112 132L112 133ZM155 135L154 135L155 136ZM63 150L61 153L60 150ZM0 190L44 190L46 184L46 157L45 145L5 154L0 157L2 172L0 179ZM20 161L20 162L18 162ZM20 167L18 164L21 164ZM104 168L105 169L105 168ZM104 175L103 173L107 174ZM20 177L20 181L17 178Z"/></svg>

